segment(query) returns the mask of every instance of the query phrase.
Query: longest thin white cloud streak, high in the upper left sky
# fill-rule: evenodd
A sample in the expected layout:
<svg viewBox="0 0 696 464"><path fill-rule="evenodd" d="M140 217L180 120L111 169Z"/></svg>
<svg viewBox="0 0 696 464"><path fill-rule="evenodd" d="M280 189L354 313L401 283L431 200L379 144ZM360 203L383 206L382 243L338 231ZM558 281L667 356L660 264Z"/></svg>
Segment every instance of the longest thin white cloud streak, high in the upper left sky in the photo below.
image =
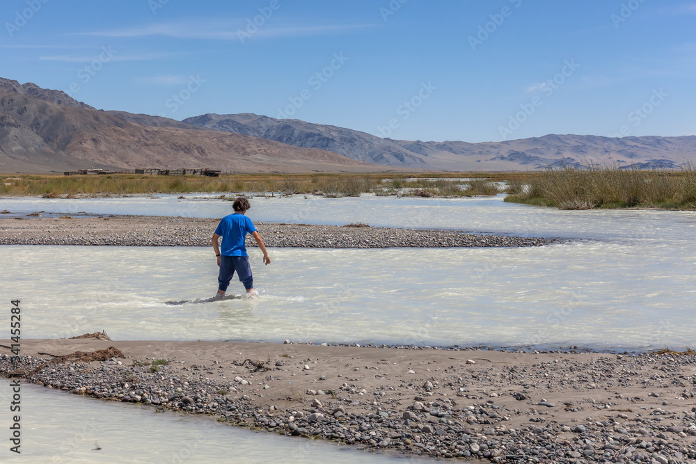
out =
<svg viewBox="0 0 696 464"><path fill-rule="evenodd" d="M253 38L301 37L306 35L329 35L369 27L366 24L337 24L328 26L270 26L261 25L251 33ZM134 38L160 35L171 38L239 40L239 31L248 33L245 21L235 22L187 22L145 24L134 28L91 31L75 35L95 37Z"/></svg>

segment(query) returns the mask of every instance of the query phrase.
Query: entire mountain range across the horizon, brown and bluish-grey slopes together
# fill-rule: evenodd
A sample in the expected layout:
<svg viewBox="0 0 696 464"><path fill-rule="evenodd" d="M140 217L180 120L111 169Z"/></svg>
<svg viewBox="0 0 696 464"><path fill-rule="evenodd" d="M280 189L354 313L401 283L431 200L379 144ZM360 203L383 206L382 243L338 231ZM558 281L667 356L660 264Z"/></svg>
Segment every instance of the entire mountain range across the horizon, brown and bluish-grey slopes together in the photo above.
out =
<svg viewBox="0 0 696 464"><path fill-rule="evenodd" d="M547 135L514 141L404 141L253 113L177 121L102 111L60 90L0 78L0 172L200 168L238 172L535 170L588 163L674 169L696 136Z"/></svg>

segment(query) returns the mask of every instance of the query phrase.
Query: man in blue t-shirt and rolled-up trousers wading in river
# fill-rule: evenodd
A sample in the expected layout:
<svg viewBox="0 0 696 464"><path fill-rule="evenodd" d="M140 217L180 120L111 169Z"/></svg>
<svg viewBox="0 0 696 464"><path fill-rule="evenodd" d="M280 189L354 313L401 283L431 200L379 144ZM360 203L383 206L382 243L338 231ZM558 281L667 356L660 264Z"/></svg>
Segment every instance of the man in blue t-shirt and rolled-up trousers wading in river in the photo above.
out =
<svg viewBox="0 0 696 464"><path fill-rule="evenodd" d="M246 234L251 234L263 252L264 264L271 264L271 258L268 257L266 246L256 227L254 227L251 219L244 216L244 213L251 208L246 198L237 198L232 204L235 209L235 214L229 214L222 218L218 224L215 233L213 234L213 249L218 259L220 273L218 275L218 291L215 295L221 298L225 296L227 287L230 285L232 276L239 276L239 282L244 284L246 296L253 297L258 295L258 291L254 289L254 278L251 275L251 267L249 266L249 257L246 254L246 246L244 246L244 238ZM222 237L222 249L218 246L218 239Z"/></svg>

